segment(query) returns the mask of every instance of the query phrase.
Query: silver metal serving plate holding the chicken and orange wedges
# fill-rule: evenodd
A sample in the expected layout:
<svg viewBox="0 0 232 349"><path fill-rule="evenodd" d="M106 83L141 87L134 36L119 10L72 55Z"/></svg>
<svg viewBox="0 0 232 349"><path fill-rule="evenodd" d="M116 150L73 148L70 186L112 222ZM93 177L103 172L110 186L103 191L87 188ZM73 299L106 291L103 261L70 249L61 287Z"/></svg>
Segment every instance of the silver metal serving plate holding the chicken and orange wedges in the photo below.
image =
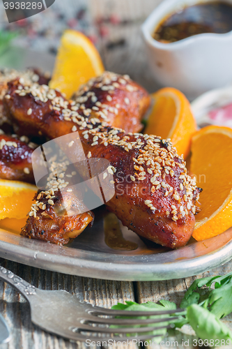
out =
<svg viewBox="0 0 232 349"><path fill-rule="evenodd" d="M123 237L138 244L134 251L118 251L105 244L102 211L71 244L57 246L0 229L0 256L32 267L65 274L120 281L180 279L219 267L232 258L232 228L187 246L169 250L144 243L121 225Z"/></svg>

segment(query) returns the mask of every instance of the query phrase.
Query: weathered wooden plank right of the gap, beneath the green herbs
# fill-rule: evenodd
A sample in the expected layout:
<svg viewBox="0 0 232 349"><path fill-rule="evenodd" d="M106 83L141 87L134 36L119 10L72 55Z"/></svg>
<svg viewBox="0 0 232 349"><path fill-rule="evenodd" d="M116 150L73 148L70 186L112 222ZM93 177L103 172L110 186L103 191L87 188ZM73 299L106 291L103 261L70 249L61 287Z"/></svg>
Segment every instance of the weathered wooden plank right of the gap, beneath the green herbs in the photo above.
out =
<svg viewBox="0 0 232 349"><path fill-rule="evenodd" d="M146 281L146 282L138 282L135 290L135 297L137 302L158 302L160 299L167 299L171 302L175 302L177 306L180 305L181 299L183 298L187 288L190 287L192 282L197 278L203 278L207 276L216 276L216 275L224 275L231 272L232 261L218 267L217 269L210 270L203 274L199 274L196 276L192 276L185 279L175 279L175 280L167 280L167 281ZM232 315L226 316L222 320L229 328L232 330ZM185 331L190 332L189 327L185 327ZM157 344L148 346L148 348L152 349L164 349L169 348L168 345L171 341L178 341L178 346L181 347L183 345L183 341L188 343L187 347L189 349L196 348L193 345L193 340L196 339L196 336L190 334L183 334L181 332L176 331L175 336L168 336L164 339L164 345L160 346ZM165 345L167 343L167 345ZM217 348L225 348L217 347ZM232 343L226 348L231 349Z"/></svg>

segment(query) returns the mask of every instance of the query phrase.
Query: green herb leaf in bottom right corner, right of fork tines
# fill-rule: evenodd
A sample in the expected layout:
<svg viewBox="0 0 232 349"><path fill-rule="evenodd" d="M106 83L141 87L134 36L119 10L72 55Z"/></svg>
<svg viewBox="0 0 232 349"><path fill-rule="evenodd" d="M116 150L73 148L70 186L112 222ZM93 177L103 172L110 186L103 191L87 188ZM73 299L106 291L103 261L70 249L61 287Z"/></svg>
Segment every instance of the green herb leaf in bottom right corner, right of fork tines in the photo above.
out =
<svg viewBox="0 0 232 349"><path fill-rule="evenodd" d="M197 304L187 308L187 320L201 339L231 340L232 333L215 314Z"/></svg>

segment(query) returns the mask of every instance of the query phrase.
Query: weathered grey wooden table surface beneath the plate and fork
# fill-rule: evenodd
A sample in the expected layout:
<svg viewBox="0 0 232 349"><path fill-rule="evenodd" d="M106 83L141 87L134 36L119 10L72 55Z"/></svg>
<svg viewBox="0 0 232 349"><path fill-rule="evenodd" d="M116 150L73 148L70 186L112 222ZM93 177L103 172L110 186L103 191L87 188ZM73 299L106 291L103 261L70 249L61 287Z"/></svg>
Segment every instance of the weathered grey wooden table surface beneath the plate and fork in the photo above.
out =
<svg viewBox="0 0 232 349"><path fill-rule="evenodd" d="M159 1L154 0L91 0L91 10L94 16L100 16L106 11L118 13L125 17L126 24L117 27L114 24L105 24L109 36L102 38L100 53L107 70L116 73L127 73L132 79L142 84L148 91L157 89L157 84L150 76L146 62L146 53L141 40L140 25ZM114 6L112 6L114 3ZM123 38L123 41L121 40ZM121 44L120 44L121 42ZM183 297L195 277L169 281L153 282L125 282L87 279L79 276L70 276L56 272L47 272L16 262L0 258L0 264L21 276L38 288L45 290L67 290L98 306L111 307L117 302L134 300L136 302L157 302L159 299L173 300L177 304ZM226 274L231 271L232 262L219 267L211 272L206 272L198 277ZM64 339L52 336L33 326L30 321L29 305L24 297L20 296L13 288L0 281L0 313L4 315L12 332L9 343L0 345L1 349L80 349L86 348L84 343L70 343ZM230 301L231 302L231 301ZM231 318L226 322L232 328ZM64 319L65 320L65 319ZM192 346L194 336L180 333L168 341L178 340L178 347L182 348L182 339L190 339L189 348ZM114 346L114 348L122 348ZM125 348L125 347L124 347ZM131 345L135 349L137 346ZM153 346L160 348L160 346ZM162 346L162 348L168 348ZM170 346L169 346L170 348ZM228 348L228 347L227 347ZM232 346L231 346L232 348Z"/></svg>

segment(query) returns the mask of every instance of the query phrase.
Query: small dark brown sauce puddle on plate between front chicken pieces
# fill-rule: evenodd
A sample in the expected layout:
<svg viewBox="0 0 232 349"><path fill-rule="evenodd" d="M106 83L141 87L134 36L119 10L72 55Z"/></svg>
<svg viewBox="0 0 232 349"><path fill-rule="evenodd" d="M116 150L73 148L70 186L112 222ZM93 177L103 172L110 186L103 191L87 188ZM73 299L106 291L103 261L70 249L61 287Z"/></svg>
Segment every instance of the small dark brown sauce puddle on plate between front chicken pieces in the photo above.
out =
<svg viewBox="0 0 232 349"><path fill-rule="evenodd" d="M125 240L121 232L118 218L115 214L107 214L104 217L105 243L110 248L120 251L133 251L138 248L135 242Z"/></svg>

